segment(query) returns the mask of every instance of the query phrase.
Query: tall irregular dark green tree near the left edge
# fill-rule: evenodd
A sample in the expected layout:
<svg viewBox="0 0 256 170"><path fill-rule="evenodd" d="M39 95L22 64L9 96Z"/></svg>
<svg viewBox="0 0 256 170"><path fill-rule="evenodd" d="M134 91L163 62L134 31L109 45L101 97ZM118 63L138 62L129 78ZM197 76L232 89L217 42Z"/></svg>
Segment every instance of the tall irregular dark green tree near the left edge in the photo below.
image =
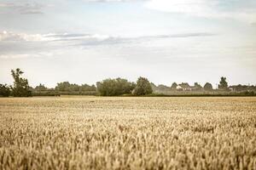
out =
<svg viewBox="0 0 256 170"><path fill-rule="evenodd" d="M29 89L27 79L21 77L23 73L24 72L21 71L19 68L11 71L12 77L14 77L15 79L14 86L12 87L12 93L14 97L32 96L32 91L30 91Z"/></svg>

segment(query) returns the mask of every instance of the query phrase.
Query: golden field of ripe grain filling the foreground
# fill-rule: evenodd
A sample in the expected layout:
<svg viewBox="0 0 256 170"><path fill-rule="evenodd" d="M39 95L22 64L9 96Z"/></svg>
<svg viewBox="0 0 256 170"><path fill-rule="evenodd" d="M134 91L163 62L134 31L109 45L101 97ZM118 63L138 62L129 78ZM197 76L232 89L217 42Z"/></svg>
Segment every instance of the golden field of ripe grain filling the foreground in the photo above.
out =
<svg viewBox="0 0 256 170"><path fill-rule="evenodd" d="M0 169L256 169L256 98L0 99Z"/></svg>

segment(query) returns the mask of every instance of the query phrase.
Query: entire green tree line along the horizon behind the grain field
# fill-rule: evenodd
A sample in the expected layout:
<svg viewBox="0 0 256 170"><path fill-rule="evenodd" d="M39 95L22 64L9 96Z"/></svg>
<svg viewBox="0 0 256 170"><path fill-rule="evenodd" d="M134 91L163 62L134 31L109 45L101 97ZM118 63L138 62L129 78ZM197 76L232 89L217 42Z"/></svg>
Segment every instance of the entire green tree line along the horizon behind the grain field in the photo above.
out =
<svg viewBox="0 0 256 170"><path fill-rule="evenodd" d="M12 70L11 75L14 78L14 84L8 86L0 84L0 96L3 97L30 97L30 96L59 96L66 95L101 95L101 96L119 96L119 95L134 95L143 96L153 94L153 92L161 93L164 91L218 91L218 92L247 92L254 94L256 87L237 85L228 85L226 77L221 77L218 83L218 89L213 89L212 84L207 82L203 87L198 82L194 86L190 86L187 82L177 84L172 83L171 87L165 85L155 86L153 82L149 82L145 77L139 77L137 82L129 82L124 78L105 79L101 82L96 82L95 85L88 84L73 84L70 82L59 82L55 88L46 88L44 84L39 84L37 87L32 88L29 86L26 78L22 77L23 71L19 68Z"/></svg>

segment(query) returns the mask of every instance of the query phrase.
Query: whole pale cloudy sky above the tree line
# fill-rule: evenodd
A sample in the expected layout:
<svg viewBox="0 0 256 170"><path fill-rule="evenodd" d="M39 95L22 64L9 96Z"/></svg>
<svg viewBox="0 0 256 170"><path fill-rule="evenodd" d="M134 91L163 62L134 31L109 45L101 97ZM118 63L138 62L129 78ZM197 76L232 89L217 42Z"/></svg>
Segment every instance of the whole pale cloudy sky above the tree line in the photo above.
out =
<svg viewBox="0 0 256 170"><path fill-rule="evenodd" d="M0 83L256 85L255 0L0 0Z"/></svg>

